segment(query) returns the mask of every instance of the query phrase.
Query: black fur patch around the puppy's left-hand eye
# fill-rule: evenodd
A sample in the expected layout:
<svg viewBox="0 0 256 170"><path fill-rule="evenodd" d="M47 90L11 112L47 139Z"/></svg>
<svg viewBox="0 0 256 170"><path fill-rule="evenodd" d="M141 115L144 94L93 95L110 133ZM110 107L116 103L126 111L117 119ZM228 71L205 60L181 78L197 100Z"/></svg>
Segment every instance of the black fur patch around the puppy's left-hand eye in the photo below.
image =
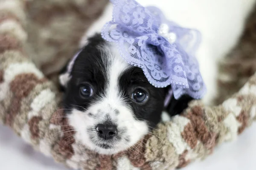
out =
<svg viewBox="0 0 256 170"><path fill-rule="evenodd" d="M89 39L89 43L77 57L71 75L72 78L67 84L64 95L65 108L76 108L78 110L86 109L94 100L105 95L106 71L108 63L104 62L102 51L96 48L98 45L104 45L105 41L100 35ZM81 98L80 87L84 83L89 83L93 88L94 95L89 99Z"/></svg>

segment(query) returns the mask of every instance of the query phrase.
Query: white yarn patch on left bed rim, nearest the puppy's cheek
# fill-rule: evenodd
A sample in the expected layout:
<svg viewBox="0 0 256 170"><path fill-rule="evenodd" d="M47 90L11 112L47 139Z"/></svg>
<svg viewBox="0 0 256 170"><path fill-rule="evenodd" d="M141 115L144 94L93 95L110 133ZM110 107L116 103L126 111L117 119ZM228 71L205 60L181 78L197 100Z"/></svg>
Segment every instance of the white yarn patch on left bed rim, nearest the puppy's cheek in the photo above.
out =
<svg viewBox="0 0 256 170"><path fill-rule="evenodd" d="M38 96L35 97L30 107L32 111L29 111L28 118L31 119L33 116L44 116L39 115L39 111L44 108L49 102L55 98L55 94L50 89L45 89L40 92Z"/></svg>

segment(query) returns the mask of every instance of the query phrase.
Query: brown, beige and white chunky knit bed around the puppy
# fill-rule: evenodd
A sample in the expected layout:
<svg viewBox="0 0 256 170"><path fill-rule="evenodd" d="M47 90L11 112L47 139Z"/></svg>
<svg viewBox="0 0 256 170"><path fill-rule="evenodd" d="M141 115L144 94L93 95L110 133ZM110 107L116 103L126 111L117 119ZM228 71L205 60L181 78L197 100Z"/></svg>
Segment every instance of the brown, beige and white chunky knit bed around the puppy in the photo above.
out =
<svg viewBox="0 0 256 170"><path fill-rule="evenodd" d="M236 139L256 120L256 51L246 48L256 45L255 13L236 53L230 54L236 55L235 59L229 57L221 63L225 66L222 74L232 75L232 79L219 80L221 89L230 86L234 93L243 86L237 93L227 93L228 99L222 96L224 102L215 107L191 102L183 114L160 123L153 134L125 152L105 156L87 150L69 130L72 127L60 107L61 93L48 78L53 79L55 71L72 56L84 30L106 3L0 0L1 123L36 150L74 169L163 170L203 159L216 145ZM238 66L240 69L234 69Z"/></svg>

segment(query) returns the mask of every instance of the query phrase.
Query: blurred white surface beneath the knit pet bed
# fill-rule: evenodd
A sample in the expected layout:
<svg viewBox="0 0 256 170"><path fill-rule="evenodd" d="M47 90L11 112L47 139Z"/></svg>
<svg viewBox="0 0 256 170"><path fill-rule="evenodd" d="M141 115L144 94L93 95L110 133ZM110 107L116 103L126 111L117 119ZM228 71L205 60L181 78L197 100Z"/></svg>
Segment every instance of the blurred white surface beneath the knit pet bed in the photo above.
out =
<svg viewBox="0 0 256 170"><path fill-rule="evenodd" d="M220 145L204 161L182 170L255 170L256 123L234 142ZM33 150L8 127L0 125L0 170L68 170Z"/></svg>

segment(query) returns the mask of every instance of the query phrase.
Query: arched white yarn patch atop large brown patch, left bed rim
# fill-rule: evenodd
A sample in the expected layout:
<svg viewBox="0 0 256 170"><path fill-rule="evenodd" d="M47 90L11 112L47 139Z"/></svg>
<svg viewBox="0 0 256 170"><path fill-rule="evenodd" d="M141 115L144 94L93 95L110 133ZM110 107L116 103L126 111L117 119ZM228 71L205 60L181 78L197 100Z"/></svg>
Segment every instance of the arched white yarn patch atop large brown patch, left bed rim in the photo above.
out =
<svg viewBox="0 0 256 170"><path fill-rule="evenodd" d="M34 64L30 62L22 62L22 63L10 64L9 67L4 72L4 80L5 82L9 83L12 81L12 79L15 78L15 76L17 76L18 74L24 74L24 73L33 73L39 79L44 77L44 74L42 74L41 71L39 71Z"/></svg>

